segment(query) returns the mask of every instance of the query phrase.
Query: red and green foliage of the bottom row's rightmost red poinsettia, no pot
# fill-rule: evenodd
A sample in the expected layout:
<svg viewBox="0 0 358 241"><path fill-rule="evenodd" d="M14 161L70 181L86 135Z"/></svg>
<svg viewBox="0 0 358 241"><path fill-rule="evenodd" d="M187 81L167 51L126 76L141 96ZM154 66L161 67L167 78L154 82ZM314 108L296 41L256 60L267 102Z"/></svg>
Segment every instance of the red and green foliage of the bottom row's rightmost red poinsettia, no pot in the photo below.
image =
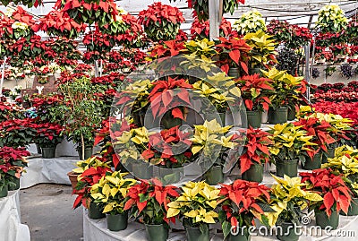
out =
<svg viewBox="0 0 358 241"><path fill-rule="evenodd" d="M345 185L341 176L335 176L330 169L316 169L311 173L300 173L302 183L307 184L307 189L318 192L323 197L319 209L326 211L328 217L332 213L336 203L336 211L348 212L351 203L351 191Z"/></svg>

